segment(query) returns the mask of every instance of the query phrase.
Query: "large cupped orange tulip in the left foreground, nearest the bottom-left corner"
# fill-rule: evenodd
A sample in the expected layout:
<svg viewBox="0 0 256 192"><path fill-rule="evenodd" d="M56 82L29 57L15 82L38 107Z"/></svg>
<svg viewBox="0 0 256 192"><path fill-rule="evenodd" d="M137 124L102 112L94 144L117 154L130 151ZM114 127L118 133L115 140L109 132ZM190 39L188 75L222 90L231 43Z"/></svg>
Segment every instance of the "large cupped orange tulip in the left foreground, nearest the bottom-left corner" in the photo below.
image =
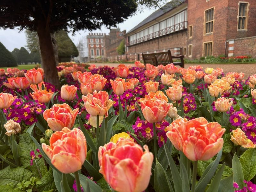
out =
<svg viewBox="0 0 256 192"><path fill-rule="evenodd" d="M43 143L42 148L54 167L66 174L82 169L87 155L86 139L78 128L65 127L53 133L50 146Z"/></svg>

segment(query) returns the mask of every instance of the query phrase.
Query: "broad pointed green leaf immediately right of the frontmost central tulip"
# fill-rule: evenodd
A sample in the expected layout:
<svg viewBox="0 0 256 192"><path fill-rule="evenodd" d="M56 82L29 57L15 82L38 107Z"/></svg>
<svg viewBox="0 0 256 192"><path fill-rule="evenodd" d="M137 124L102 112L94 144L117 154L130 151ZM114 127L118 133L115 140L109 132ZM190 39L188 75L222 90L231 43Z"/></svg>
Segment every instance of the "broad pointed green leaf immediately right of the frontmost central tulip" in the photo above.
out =
<svg viewBox="0 0 256 192"><path fill-rule="evenodd" d="M173 191L168 176L157 159L154 170L154 189L156 192Z"/></svg>

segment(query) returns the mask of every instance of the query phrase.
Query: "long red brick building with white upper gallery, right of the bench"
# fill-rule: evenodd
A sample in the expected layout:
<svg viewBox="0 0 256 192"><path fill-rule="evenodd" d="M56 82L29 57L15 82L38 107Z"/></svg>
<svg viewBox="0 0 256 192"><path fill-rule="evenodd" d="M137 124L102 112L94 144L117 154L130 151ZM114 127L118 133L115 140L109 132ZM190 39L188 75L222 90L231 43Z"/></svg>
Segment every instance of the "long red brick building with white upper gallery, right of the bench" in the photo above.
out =
<svg viewBox="0 0 256 192"><path fill-rule="evenodd" d="M180 1L179 1L180 2ZM256 57L255 0L182 0L167 4L128 31L126 58L171 50L187 58Z"/></svg>

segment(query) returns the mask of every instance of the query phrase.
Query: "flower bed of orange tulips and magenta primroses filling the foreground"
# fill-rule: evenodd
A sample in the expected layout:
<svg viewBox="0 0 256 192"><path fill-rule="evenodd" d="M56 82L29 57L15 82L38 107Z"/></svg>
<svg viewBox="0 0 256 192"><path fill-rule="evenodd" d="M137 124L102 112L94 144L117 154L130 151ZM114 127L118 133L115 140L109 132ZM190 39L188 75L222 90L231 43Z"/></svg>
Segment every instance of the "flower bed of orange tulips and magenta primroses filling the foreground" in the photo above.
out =
<svg viewBox="0 0 256 192"><path fill-rule="evenodd" d="M255 191L256 75L0 69L2 191Z"/></svg>

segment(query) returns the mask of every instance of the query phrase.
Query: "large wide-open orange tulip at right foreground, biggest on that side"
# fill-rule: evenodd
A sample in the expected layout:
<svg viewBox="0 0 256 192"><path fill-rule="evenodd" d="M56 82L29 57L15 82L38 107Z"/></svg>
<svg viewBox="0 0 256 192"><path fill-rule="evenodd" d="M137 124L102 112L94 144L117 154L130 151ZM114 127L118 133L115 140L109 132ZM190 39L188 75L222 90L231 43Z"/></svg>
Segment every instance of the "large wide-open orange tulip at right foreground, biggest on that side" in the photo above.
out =
<svg viewBox="0 0 256 192"><path fill-rule="evenodd" d="M216 155L223 147L221 137L226 131L217 122L208 123L204 117L188 122L179 119L167 130L166 135L174 147L192 161L206 161Z"/></svg>

